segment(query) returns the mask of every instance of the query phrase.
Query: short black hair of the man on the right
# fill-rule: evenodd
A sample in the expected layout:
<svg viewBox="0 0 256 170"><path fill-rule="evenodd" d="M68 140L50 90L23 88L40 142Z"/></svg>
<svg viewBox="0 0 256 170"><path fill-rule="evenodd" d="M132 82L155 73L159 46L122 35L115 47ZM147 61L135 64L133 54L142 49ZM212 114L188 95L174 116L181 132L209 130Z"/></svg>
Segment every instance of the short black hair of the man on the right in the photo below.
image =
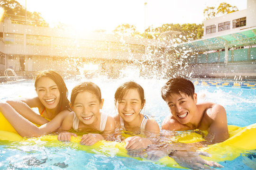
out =
<svg viewBox="0 0 256 170"><path fill-rule="evenodd" d="M184 93L193 98L195 93L195 87L193 83L182 77L171 78L161 89L161 95L164 100L166 100L168 95L173 93L181 94Z"/></svg>

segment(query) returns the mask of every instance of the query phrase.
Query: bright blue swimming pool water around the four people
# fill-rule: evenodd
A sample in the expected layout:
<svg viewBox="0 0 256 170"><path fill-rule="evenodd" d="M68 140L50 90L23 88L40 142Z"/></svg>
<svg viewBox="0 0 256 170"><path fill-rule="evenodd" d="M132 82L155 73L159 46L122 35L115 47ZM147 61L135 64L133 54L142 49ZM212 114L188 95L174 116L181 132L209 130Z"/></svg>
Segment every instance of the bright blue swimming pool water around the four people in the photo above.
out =
<svg viewBox="0 0 256 170"><path fill-rule="evenodd" d="M89 79L100 86L102 97L105 99L104 112L115 115L114 93L123 82L135 80L142 85L146 94L146 106L143 113L155 117L161 125L164 117L169 114L168 107L160 95L165 79L137 79L126 77L122 79L107 79L105 77ZM71 93L74 85L83 80L66 80L67 88ZM88 81L88 80L86 80ZM0 100L13 97L32 97L36 95L34 82L27 80L19 83L0 85ZM216 102L223 105L227 111L229 125L248 126L256 123L256 90L251 88L235 88L232 86L196 85L198 101ZM224 155L223 155L224 156ZM256 152L241 154L233 161L219 162L224 168L221 170L254 170ZM118 157L115 155L91 154L71 147L46 147L41 144L19 144L0 141L0 169L88 169L88 170L173 170L165 165L151 161L138 161L133 158Z"/></svg>

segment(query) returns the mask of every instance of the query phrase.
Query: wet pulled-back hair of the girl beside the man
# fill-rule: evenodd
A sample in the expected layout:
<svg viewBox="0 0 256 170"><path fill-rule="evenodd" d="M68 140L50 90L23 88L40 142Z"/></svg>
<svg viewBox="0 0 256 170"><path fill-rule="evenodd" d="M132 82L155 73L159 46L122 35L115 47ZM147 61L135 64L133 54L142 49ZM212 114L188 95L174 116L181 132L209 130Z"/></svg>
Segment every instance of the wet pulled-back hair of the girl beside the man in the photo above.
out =
<svg viewBox="0 0 256 170"><path fill-rule="evenodd" d="M117 91L115 93L115 103L120 102L129 89L137 89L141 103L145 103L146 100L143 88L133 81L125 82L117 88Z"/></svg>

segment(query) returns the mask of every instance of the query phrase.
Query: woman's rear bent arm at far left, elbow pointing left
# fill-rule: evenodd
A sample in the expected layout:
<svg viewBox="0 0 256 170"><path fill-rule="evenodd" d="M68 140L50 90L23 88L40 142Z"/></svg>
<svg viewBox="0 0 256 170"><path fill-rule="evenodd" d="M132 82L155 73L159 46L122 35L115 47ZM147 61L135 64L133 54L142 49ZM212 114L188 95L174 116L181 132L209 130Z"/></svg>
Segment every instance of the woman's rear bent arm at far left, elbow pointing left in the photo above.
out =
<svg viewBox="0 0 256 170"><path fill-rule="evenodd" d="M43 104L39 101L38 97L24 100L7 101L13 109L15 109L21 116L37 125L43 125L48 122L45 118L38 115L31 108L43 108Z"/></svg>

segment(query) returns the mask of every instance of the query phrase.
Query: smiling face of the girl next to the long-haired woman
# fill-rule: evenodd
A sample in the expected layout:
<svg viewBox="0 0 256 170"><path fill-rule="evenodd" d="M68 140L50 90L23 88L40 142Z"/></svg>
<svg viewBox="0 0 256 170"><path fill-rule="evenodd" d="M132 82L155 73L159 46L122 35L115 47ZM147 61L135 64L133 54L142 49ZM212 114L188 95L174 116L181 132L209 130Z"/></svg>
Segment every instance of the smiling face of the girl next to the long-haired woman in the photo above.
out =
<svg viewBox="0 0 256 170"><path fill-rule="evenodd" d="M84 91L77 94L74 100L73 110L76 117L83 124L91 125L98 120L103 102L103 99L99 101L95 94Z"/></svg>

